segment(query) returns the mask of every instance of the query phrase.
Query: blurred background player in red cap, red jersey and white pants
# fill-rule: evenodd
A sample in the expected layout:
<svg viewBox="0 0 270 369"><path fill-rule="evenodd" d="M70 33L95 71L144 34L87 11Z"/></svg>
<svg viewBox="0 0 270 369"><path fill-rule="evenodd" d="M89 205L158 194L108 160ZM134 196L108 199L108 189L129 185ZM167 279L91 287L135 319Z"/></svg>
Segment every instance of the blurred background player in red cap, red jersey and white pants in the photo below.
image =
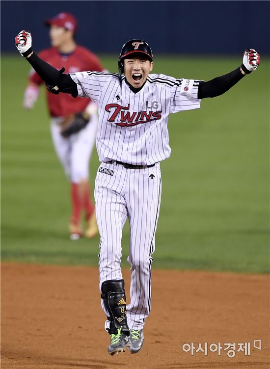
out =
<svg viewBox="0 0 270 369"><path fill-rule="evenodd" d="M43 50L39 56L65 73L78 71L98 71L103 67L98 57L76 44L74 33L77 21L69 13L59 13L45 22L50 26L52 47ZM24 107L31 109L35 104L39 87L43 80L34 70L30 71L29 83L25 91ZM90 99L72 98L69 94L54 95L47 91L47 103L51 116L51 132L54 148L64 171L71 182L72 215L69 221L71 239L82 236L81 213L85 213L86 237L98 233L95 207L90 199L89 160L94 147L98 114L96 105ZM81 130L72 134L65 131L75 119L75 114L83 122ZM70 132L69 132L70 133Z"/></svg>

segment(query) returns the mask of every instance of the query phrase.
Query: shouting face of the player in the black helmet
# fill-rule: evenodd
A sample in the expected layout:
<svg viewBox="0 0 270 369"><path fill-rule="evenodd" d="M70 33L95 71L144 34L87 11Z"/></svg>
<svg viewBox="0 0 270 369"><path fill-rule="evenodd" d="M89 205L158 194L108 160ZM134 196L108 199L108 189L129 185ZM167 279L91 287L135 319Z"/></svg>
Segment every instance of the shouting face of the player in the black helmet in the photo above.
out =
<svg viewBox="0 0 270 369"><path fill-rule="evenodd" d="M124 59L125 77L133 87L139 88L146 81L153 65L153 61L145 59L143 56Z"/></svg>

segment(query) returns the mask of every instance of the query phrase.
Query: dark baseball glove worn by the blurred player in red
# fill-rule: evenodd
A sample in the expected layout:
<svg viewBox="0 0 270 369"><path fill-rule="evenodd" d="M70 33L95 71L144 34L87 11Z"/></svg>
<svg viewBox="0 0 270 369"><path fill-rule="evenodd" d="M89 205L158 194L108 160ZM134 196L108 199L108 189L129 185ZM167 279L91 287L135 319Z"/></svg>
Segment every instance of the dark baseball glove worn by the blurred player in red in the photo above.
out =
<svg viewBox="0 0 270 369"><path fill-rule="evenodd" d="M88 124L89 119L90 115L86 111L69 114L60 123L61 135L67 138L74 133L80 132Z"/></svg>

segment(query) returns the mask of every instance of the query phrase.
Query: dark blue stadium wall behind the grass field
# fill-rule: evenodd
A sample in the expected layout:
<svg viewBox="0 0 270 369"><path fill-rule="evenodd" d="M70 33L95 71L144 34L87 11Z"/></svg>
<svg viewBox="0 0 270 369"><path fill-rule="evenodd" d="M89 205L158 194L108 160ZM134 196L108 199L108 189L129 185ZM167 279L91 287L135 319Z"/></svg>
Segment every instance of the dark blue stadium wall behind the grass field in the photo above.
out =
<svg viewBox="0 0 270 369"><path fill-rule="evenodd" d="M77 17L78 42L97 53L118 53L131 38L154 53L270 53L270 1L1 1L1 51L15 51L21 29L36 51L48 47L43 21L60 11Z"/></svg>

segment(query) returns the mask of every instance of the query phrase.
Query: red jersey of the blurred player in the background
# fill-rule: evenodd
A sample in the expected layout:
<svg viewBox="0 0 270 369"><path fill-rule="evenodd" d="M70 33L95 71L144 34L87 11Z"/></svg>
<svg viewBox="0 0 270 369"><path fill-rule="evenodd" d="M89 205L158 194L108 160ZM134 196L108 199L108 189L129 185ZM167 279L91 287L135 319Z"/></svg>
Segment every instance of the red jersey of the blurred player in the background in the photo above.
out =
<svg viewBox="0 0 270 369"><path fill-rule="evenodd" d="M64 67L64 73L80 71L102 72L104 69L98 57L82 46L77 46L75 51L70 54L62 54L56 48L50 48L43 50L38 55L58 70ZM29 81L38 85L44 83L34 70L30 72ZM90 99L81 97L74 99L69 94L54 95L47 91L47 102L52 117L66 116L83 111L90 101Z"/></svg>

